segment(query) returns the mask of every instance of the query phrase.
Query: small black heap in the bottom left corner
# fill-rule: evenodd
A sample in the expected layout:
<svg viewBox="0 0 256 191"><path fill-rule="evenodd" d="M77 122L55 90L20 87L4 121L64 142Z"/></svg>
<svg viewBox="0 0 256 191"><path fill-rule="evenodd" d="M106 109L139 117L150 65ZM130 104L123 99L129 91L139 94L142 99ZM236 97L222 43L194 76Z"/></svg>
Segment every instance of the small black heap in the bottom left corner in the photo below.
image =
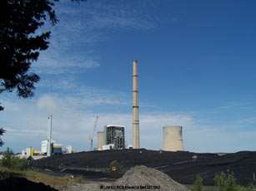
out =
<svg viewBox="0 0 256 191"><path fill-rule="evenodd" d="M11 177L0 181L1 191L58 191L43 183L34 183L24 178Z"/></svg>

